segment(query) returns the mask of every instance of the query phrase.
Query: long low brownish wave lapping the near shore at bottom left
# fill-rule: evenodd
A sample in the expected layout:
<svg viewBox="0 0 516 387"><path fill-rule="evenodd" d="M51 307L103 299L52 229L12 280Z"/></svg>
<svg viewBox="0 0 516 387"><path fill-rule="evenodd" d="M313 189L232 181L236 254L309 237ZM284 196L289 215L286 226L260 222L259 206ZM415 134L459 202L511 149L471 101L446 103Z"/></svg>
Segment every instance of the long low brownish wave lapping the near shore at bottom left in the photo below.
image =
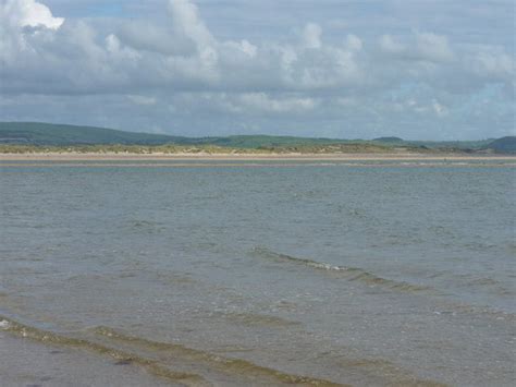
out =
<svg viewBox="0 0 516 387"><path fill-rule="evenodd" d="M155 376L186 386L209 386L213 382L210 377L217 379L219 376L222 380L228 380L228 375L242 385L260 382L263 385L345 386L331 380L283 373L247 360L224 358L181 343L134 337L109 327L89 328L83 332L89 334L88 337L72 337L32 327L0 315L0 330L40 342L73 347L111 356L118 361L118 364L139 365ZM183 367L188 372L176 371L172 366ZM192 372L192 368L198 370L198 373ZM209 377L206 377L206 374Z"/></svg>

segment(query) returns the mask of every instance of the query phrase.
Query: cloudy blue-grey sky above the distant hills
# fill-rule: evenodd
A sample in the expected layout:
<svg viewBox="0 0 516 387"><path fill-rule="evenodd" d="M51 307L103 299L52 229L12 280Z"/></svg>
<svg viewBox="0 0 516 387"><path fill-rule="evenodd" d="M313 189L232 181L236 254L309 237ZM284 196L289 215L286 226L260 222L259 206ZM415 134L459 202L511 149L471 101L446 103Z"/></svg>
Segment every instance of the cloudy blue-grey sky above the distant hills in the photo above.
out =
<svg viewBox="0 0 516 387"><path fill-rule="evenodd" d="M0 121L516 135L513 0L0 0Z"/></svg>

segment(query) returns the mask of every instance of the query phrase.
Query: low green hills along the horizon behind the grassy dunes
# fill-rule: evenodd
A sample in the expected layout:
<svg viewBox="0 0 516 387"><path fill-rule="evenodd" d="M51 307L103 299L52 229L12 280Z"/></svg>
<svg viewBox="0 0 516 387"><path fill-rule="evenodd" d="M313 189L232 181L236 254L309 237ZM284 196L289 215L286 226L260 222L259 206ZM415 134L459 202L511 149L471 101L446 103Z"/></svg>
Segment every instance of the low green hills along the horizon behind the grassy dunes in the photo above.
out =
<svg viewBox="0 0 516 387"><path fill-rule="evenodd" d="M376 146L393 149L403 147L407 150L426 152L495 152L515 153L516 137L483 141L406 141L400 137L385 136L371 141L310 138L272 135L231 135L213 137L185 137L165 134L135 133L96 126L78 126L40 122L0 122L0 145L27 146L83 146L83 145L184 145L184 146L220 146L230 148L270 149L295 152L298 148L312 147L314 150L328 148L351 149L352 147ZM344 148L343 148L344 147ZM357 148L358 149L358 148ZM347 150L345 150L347 152Z"/></svg>

